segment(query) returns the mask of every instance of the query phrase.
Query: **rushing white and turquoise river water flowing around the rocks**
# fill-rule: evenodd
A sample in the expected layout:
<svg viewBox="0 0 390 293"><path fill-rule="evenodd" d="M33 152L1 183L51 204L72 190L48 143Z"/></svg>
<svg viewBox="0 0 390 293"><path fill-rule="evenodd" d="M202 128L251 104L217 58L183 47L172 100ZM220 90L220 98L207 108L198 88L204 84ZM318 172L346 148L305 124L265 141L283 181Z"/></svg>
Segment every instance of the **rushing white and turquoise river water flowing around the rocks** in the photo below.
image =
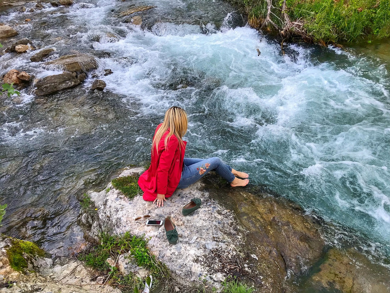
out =
<svg viewBox="0 0 390 293"><path fill-rule="evenodd" d="M101 77L102 96L89 76L52 96L0 98L0 203L9 205L1 232L64 254L82 238L76 196L147 161L154 128L178 105L189 116L188 156L220 156L252 186L332 223L332 245L353 243L389 265L389 59L371 44L288 45L282 55L219 0L132 4L157 6L147 29L122 23L129 4L114 0L2 13L20 38L57 48L53 58L93 54L97 71L113 74ZM1 73L53 74L33 54L5 54Z"/></svg>

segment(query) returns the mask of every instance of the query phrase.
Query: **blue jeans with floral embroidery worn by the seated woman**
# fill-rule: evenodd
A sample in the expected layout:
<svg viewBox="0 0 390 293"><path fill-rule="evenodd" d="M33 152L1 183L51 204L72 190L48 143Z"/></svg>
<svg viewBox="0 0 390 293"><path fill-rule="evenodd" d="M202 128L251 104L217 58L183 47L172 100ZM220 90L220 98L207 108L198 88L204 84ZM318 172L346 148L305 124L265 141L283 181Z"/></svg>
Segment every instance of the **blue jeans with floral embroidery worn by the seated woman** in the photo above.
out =
<svg viewBox="0 0 390 293"><path fill-rule="evenodd" d="M218 157L206 160L184 158L183 171L181 172L181 178L177 188L187 188L211 170L215 170L227 182L232 182L235 178L232 173L232 168L223 163Z"/></svg>

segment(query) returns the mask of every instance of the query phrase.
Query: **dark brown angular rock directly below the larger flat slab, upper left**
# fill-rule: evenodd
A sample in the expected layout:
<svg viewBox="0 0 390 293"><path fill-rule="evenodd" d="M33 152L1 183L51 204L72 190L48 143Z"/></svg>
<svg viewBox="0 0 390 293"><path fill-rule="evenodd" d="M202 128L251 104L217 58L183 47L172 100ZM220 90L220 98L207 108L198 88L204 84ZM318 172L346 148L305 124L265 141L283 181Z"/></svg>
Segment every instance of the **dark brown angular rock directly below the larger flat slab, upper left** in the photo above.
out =
<svg viewBox="0 0 390 293"><path fill-rule="evenodd" d="M75 72L64 72L56 75L50 75L37 80L35 83L37 86L35 95L49 95L51 93L61 91L62 89L73 88L78 86L80 83L81 81L77 79Z"/></svg>

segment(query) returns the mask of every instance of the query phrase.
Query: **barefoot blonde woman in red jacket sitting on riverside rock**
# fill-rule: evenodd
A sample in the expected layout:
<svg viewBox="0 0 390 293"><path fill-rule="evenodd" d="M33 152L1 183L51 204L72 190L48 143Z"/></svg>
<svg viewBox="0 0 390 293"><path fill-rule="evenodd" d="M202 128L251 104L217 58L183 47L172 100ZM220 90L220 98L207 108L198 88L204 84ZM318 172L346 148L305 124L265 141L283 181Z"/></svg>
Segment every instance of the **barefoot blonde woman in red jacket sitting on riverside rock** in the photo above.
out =
<svg viewBox="0 0 390 293"><path fill-rule="evenodd" d="M220 158L190 159L184 157L187 132L187 114L179 107L170 107L165 112L163 123L157 126L152 142L152 160L148 170L138 179L144 191L144 200L156 202L158 207L170 197L176 188L187 188L209 171L215 170L230 182L230 186L246 186L248 174L238 172Z"/></svg>

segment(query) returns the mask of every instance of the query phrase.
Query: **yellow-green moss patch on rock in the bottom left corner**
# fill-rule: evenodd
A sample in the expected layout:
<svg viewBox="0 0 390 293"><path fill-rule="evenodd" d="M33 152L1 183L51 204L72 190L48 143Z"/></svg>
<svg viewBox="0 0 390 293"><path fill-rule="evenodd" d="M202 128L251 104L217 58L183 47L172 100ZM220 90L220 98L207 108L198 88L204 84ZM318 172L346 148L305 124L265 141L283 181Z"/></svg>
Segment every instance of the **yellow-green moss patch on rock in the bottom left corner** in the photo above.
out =
<svg viewBox="0 0 390 293"><path fill-rule="evenodd" d="M28 254L31 257L43 257L45 255L45 252L41 248L30 241L12 238L11 243L12 247L7 250L7 255L11 268L16 271L22 272L28 267L27 260L23 256L23 253Z"/></svg>

